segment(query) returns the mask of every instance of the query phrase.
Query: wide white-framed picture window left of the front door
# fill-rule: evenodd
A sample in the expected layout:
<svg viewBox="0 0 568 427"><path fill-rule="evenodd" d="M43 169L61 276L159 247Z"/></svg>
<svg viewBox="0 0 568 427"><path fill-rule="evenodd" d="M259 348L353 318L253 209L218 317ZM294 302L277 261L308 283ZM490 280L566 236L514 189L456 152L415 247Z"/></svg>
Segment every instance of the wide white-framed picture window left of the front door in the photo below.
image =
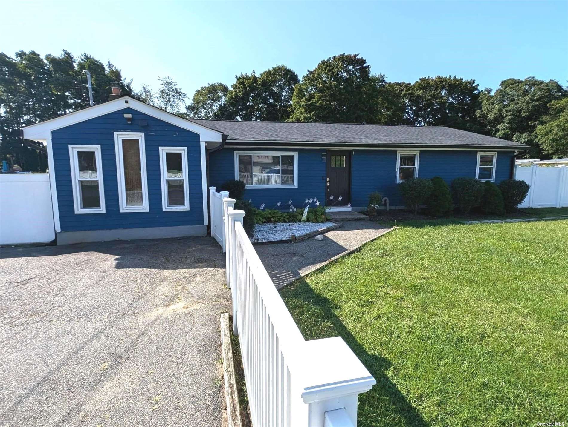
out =
<svg viewBox="0 0 568 427"><path fill-rule="evenodd" d="M247 188L297 188L298 153L235 151L235 179Z"/></svg>

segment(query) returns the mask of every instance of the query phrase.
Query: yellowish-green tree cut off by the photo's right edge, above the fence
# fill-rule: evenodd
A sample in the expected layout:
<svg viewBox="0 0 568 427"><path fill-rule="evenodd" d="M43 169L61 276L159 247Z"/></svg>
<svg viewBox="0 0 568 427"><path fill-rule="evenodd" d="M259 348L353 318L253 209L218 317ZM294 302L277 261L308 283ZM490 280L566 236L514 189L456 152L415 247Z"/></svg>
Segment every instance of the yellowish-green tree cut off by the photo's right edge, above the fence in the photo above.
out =
<svg viewBox="0 0 568 427"><path fill-rule="evenodd" d="M568 157L568 97L553 101L535 134L538 146L553 158Z"/></svg>

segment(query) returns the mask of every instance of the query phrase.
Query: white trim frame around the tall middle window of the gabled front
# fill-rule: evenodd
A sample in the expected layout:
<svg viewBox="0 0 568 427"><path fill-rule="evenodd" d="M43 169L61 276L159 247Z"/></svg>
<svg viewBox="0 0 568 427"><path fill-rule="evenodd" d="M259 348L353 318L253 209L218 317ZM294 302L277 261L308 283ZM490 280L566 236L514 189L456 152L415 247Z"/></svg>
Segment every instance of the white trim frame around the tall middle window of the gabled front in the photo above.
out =
<svg viewBox="0 0 568 427"><path fill-rule="evenodd" d="M122 139L138 139L140 146L140 169L142 172L143 206L126 206L126 187L124 185L124 165ZM118 180L118 200L120 212L148 212L148 175L146 174L146 150L143 132L115 132L114 149L116 154L116 179Z"/></svg>

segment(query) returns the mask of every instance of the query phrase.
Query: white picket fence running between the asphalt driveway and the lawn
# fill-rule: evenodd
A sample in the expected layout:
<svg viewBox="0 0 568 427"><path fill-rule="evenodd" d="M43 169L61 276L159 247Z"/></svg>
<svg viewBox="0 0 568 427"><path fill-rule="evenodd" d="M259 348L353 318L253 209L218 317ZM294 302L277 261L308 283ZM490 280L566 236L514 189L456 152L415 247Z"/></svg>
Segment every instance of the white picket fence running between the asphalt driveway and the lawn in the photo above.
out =
<svg viewBox="0 0 568 427"><path fill-rule="evenodd" d="M377 382L341 337L304 340L243 229L244 211L222 200L233 331L253 426L355 427L357 396Z"/></svg>

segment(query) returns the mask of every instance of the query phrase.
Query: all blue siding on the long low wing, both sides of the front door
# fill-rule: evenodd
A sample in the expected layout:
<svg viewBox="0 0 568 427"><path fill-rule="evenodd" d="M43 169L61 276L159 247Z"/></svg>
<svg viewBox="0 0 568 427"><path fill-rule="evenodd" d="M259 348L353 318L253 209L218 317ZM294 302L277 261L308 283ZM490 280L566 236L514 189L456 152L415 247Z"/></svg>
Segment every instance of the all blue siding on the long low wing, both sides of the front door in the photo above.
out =
<svg viewBox="0 0 568 427"><path fill-rule="evenodd" d="M247 151L247 149L237 149ZM256 150L261 151L261 149ZM298 151L298 188L247 189L245 198L252 200L254 206L265 203L273 208L277 202L283 205L292 200L294 206L301 207L306 198L317 197L325 200L325 163L321 155L325 150L267 149L267 151ZM395 184L396 150L354 150L352 151L351 204L354 207L367 206L369 193L380 192L389 197L391 206L403 205L398 185ZM448 184L461 177L475 177L477 168L475 150L420 150L418 176L432 178L441 176ZM513 151L498 151L495 182L511 177ZM229 179L235 179L235 149L223 149L212 153L209 160L210 185L220 187Z"/></svg>

